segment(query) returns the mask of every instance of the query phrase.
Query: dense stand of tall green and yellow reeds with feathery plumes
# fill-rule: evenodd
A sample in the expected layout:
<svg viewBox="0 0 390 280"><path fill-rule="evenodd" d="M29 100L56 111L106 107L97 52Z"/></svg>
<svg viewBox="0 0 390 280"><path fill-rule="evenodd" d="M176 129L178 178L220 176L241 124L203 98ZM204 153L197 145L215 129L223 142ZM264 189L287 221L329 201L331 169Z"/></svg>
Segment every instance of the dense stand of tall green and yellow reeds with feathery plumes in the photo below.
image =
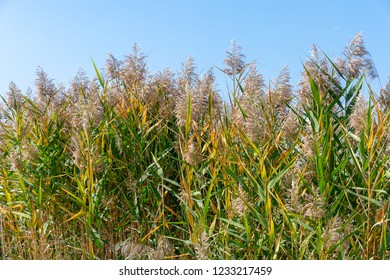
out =
<svg viewBox="0 0 390 280"><path fill-rule="evenodd" d="M138 46L69 87L41 69L0 122L2 259L389 259L390 92L358 34L296 90L234 43L224 102ZM368 94L364 96L363 92Z"/></svg>

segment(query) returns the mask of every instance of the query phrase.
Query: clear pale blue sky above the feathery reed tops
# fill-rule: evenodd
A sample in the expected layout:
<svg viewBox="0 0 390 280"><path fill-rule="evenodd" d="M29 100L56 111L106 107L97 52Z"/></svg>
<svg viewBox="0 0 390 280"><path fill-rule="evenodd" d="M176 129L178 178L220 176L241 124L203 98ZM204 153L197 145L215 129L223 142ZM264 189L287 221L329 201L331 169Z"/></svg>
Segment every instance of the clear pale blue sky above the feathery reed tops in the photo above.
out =
<svg viewBox="0 0 390 280"><path fill-rule="evenodd" d="M102 68L108 52L122 59L134 43L148 56L152 73L179 71L190 55L204 73L223 67L232 39L266 79L288 64L295 86L312 44L340 56L361 31L384 86L390 75L390 0L0 0L0 94L11 80L23 91L34 88L37 66L65 84L79 68L93 76L91 57Z"/></svg>

